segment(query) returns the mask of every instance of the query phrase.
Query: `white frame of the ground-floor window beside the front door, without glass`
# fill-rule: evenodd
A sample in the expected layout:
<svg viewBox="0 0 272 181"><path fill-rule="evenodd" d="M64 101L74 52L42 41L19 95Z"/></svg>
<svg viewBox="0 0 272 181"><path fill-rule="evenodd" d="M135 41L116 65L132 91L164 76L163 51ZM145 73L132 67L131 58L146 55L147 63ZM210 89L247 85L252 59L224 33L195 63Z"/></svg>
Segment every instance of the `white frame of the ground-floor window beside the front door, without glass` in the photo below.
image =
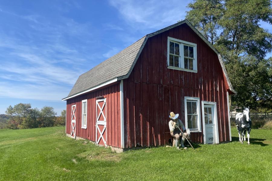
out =
<svg viewBox="0 0 272 181"><path fill-rule="evenodd" d="M200 98L199 97L184 97L184 115L185 115L185 128L188 129L187 122L187 100L196 101L196 113L197 113L197 129L190 129L190 132L201 132L201 115L200 115Z"/></svg>

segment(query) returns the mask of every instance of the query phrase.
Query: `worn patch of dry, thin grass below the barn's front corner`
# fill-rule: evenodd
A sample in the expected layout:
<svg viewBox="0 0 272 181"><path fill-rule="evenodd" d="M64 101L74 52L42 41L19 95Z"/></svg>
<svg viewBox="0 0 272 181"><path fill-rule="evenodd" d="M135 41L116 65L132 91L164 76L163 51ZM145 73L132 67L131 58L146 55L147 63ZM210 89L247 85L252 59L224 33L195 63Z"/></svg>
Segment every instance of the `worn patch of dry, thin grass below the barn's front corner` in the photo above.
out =
<svg viewBox="0 0 272 181"><path fill-rule="evenodd" d="M83 157L87 160L102 160L102 161L114 161L119 162L122 160L121 154L117 154L112 151L108 150L93 150L93 151L86 151L83 153L78 154L77 156Z"/></svg>

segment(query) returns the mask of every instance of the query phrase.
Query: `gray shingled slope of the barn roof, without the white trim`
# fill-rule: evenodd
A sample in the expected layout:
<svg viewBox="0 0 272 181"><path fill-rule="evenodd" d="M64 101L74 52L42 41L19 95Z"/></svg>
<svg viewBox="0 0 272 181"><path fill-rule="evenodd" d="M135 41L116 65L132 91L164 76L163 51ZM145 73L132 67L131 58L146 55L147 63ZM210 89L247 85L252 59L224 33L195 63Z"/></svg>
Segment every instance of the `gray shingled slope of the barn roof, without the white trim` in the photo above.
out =
<svg viewBox="0 0 272 181"><path fill-rule="evenodd" d="M127 75L145 40L145 37L146 36L142 37L140 40L133 43L131 46L128 46L118 54L80 75L68 97L113 78Z"/></svg>

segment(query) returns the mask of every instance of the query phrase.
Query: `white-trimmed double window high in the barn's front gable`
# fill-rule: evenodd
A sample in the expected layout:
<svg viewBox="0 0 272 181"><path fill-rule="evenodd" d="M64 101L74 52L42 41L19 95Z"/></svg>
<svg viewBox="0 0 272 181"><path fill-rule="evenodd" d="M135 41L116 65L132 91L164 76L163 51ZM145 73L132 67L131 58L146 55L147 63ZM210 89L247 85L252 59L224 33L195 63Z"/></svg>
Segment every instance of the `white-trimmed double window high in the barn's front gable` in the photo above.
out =
<svg viewBox="0 0 272 181"><path fill-rule="evenodd" d="M196 44L168 37L167 65L168 68L197 72Z"/></svg>

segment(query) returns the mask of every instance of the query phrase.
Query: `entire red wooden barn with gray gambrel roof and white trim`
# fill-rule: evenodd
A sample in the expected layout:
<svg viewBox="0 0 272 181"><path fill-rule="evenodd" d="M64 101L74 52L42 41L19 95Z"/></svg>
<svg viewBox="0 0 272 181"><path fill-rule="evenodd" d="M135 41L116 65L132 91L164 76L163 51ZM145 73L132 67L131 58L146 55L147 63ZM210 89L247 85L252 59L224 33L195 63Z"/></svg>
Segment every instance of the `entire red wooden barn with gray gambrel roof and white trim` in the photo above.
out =
<svg viewBox="0 0 272 181"><path fill-rule="evenodd" d="M193 142L231 141L228 95L235 93L219 52L184 20L80 75L63 98L66 133L117 151L164 145L173 111Z"/></svg>

